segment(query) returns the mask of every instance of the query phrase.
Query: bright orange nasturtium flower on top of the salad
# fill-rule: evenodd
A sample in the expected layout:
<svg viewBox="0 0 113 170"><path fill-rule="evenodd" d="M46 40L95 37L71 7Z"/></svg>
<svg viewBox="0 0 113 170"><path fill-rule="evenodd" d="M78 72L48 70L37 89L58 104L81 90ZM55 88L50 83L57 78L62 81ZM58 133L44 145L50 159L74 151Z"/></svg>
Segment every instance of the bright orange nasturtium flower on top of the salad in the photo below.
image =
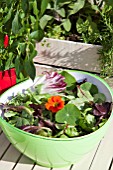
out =
<svg viewBox="0 0 113 170"><path fill-rule="evenodd" d="M48 99L48 102L45 104L47 110L56 113L64 107L64 101L60 96L52 96Z"/></svg>

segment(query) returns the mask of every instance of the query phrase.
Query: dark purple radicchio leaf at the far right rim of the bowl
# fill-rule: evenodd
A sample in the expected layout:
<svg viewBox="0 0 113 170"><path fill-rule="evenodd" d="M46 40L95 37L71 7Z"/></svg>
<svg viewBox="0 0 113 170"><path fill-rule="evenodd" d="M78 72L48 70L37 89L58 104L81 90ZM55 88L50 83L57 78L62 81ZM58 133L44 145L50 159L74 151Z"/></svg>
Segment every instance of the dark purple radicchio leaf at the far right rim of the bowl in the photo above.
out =
<svg viewBox="0 0 113 170"><path fill-rule="evenodd" d="M95 116L107 117L108 113L111 110L111 103L105 102L103 104L95 104L93 109L93 114Z"/></svg>

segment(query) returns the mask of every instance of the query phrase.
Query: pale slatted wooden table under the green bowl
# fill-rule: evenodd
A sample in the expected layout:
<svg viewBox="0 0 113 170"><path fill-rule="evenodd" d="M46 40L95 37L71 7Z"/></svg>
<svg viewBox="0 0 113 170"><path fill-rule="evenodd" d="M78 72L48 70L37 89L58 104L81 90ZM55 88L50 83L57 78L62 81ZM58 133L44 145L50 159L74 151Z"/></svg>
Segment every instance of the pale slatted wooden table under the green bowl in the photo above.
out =
<svg viewBox="0 0 113 170"><path fill-rule="evenodd" d="M40 69L39 69L40 67ZM45 69L36 65L37 74ZM53 70L55 68L52 68ZM107 80L108 81L108 80ZM109 79L113 88L113 78ZM113 123L110 125L105 137L94 150L75 165L66 168L45 168L36 165L32 160L21 154L10 144L0 129L0 170L113 170Z"/></svg>

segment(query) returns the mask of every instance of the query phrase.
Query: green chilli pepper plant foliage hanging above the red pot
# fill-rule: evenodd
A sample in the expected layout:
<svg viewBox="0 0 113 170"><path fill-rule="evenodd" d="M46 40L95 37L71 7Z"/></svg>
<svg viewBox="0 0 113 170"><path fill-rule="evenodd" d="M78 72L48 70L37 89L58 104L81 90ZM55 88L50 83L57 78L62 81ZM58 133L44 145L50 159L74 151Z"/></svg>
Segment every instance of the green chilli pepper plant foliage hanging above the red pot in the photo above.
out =
<svg viewBox="0 0 113 170"><path fill-rule="evenodd" d="M0 70L16 68L17 76L35 78L36 41L44 37L40 18L48 0L0 0ZM4 48L4 36L9 45Z"/></svg>

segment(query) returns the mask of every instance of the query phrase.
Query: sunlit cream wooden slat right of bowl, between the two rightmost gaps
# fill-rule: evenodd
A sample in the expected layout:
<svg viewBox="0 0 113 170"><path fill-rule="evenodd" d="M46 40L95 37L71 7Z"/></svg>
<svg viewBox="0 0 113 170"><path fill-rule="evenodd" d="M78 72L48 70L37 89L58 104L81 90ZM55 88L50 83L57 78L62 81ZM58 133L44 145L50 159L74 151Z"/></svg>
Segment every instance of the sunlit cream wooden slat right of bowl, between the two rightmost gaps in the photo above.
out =
<svg viewBox="0 0 113 170"><path fill-rule="evenodd" d="M113 157L113 123L103 138L90 170L108 170Z"/></svg>

